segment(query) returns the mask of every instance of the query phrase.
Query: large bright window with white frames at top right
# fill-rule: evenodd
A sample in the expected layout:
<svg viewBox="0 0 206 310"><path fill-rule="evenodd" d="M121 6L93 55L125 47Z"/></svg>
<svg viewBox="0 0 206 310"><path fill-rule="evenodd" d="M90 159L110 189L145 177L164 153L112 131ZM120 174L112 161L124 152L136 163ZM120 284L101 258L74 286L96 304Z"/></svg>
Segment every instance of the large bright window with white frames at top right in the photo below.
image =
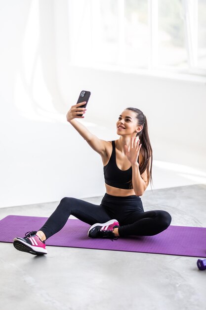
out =
<svg viewBox="0 0 206 310"><path fill-rule="evenodd" d="M68 7L72 64L206 75L206 0L68 0Z"/></svg>

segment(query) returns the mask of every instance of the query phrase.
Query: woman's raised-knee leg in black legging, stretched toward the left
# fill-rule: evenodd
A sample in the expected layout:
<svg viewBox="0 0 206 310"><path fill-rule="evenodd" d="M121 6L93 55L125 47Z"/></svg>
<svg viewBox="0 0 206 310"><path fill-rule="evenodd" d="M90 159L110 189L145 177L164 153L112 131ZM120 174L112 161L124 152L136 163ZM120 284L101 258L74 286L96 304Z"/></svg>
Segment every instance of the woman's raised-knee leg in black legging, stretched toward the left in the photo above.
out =
<svg viewBox="0 0 206 310"><path fill-rule="evenodd" d="M93 225L94 223L104 223L111 220L104 207L85 202L81 199L65 197L60 201L56 210L40 228L37 235L41 238L45 235L46 239L61 230L66 224L70 215L74 215L83 222ZM42 241L44 241L42 240Z"/></svg>

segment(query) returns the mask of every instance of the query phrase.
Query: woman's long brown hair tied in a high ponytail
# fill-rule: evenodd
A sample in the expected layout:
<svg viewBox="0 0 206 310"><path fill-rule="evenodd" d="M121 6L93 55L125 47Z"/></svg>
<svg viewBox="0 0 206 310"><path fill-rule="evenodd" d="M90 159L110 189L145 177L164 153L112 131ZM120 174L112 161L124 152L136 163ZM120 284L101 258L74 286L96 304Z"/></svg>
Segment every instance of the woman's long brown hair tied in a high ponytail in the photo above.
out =
<svg viewBox="0 0 206 310"><path fill-rule="evenodd" d="M136 137L139 137L140 144L142 144L140 152L143 156L143 161L139 166L140 174L142 174L145 170L147 171L147 178L152 183L152 160L153 160L153 152L150 144L150 138L148 134L148 126L146 116L142 113L141 110L135 107L127 107L126 110L131 110L136 112L136 118L138 120L138 126L143 126L142 130L136 134ZM151 163L151 164L150 164ZM132 182L131 182L132 188Z"/></svg>

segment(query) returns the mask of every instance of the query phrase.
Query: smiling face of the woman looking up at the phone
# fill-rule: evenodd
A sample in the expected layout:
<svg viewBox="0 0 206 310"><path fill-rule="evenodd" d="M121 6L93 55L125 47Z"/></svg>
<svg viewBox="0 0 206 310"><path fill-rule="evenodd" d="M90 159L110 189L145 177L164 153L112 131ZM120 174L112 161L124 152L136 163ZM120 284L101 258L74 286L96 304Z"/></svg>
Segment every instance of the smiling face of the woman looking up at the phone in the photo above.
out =
<svg viewBox="0 0 206 310"><path fill-rule="evenodd" d="M124 110L117 121L117 134L118 135L132 135L140 131L136 112L131 110Z"/></svg>

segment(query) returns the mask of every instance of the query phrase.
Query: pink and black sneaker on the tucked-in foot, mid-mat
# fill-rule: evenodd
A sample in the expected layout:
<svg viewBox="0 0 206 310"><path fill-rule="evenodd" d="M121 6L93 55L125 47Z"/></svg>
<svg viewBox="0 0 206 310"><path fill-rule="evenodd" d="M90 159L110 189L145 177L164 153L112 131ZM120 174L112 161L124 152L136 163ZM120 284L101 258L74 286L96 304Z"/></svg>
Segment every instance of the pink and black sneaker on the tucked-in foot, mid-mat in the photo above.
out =
<svg viewBox="0 0 206 310"><path fill-rule="evenodd" d="M87 236L90 238L110 238L117 240L118 237L115 237L113 233L114 228L119 227L120 224L116 219L111 219L106 223L96 223L92 225L87 233Z"/></svg>

